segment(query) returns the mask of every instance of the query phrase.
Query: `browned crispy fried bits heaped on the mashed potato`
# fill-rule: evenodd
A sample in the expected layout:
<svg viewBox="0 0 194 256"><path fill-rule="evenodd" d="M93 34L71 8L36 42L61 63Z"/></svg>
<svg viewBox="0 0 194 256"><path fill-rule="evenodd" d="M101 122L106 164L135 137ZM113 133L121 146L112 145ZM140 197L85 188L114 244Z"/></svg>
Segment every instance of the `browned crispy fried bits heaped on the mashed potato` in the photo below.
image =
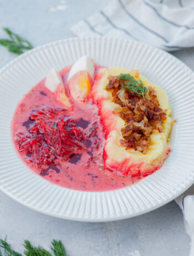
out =
<svg viewBox="0 0 194 256"><path fill-rule="evenodd" d="M106 90L113 96L113 102L119 106L114 112L125 121L121 129L122 146L134 149L146 154L150 145L152 130L163 131L162 123L166 120L166 113L160 108L156 92L149 86L148 92L143 98L127 88L124 88L125 80L117 76L109 76Z"/></svg>

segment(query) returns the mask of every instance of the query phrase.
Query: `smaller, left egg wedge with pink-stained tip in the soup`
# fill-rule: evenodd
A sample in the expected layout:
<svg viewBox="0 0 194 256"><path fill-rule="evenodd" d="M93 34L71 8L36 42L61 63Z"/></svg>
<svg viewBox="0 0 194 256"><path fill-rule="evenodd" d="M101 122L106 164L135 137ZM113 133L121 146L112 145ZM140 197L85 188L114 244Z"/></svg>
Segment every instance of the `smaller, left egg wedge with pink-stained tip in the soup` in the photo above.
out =
<svg viewBox="0 0 194 256"><path fill-rule="evenodd" d="M44 86L53 93L55 100L63 104L65 107L69 108L72 106L65 92L62 77L60 77L59 73L54 68L49 71Z"/></svg>

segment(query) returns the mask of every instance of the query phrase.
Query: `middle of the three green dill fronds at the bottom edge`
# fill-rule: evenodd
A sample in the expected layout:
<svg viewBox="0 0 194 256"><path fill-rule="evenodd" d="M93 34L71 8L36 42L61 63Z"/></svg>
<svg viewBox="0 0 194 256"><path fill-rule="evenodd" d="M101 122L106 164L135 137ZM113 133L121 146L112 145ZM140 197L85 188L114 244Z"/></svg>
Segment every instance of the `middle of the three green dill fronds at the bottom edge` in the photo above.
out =
<svg viewBox="0 0 194 256"><path fill-rule="evenodd" d="M28 240L24 240L24 254L27 256L52 256L43 247L35 247Z"/></svg>

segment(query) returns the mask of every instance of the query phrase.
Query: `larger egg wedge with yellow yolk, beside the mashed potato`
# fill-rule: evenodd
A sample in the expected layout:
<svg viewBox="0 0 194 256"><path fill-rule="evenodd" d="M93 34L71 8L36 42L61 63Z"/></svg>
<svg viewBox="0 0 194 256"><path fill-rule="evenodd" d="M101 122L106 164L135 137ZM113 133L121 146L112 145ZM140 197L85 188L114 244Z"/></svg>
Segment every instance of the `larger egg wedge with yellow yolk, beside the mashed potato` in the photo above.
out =
<svg viewBox="0 0 194 256"><path fill-rule="evenodd" d="M70 69L68 87L76 102L85 103L88 100L94 70L94 64L87 56L81 57Z"/></svg>

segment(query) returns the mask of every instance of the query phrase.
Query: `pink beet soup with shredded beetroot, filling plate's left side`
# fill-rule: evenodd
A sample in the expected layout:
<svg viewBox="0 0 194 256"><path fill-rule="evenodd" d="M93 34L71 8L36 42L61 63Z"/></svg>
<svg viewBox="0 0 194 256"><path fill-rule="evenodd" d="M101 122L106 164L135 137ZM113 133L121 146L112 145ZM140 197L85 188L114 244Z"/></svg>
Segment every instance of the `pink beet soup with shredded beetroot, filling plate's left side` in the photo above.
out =
<svg viewBox="0 0 194 256"><path fill-rule="evenodd" d="M60 71L67 93L69 70ZM51 183L83 191L120 189L140 180L104 169L105 137L93 100L81 106L68 93L73 108L65 109L44 82L24 95L12 120L14 146L29 169Z"/></svg>

